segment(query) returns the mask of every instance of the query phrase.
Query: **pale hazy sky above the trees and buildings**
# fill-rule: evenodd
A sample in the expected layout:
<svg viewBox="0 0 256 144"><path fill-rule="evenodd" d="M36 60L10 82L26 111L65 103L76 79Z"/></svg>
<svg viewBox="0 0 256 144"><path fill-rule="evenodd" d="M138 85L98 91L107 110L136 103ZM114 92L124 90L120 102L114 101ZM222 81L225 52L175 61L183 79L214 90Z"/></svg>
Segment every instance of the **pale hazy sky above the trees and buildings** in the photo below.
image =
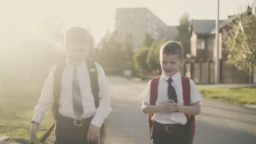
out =
<svg viewBox="0 0 256 144"><path fill-rule="evenodd" d="M219 0L219 17L240 13L255 0ZM33 29L45 17L60 16L64 27L82 26L88 28L98 43L107 29L114 30L116 8L147 7L166 25L179 25L184 13L190 19L216 19L217 0L108 0L108 1L65 1L65 0L0 0L1 28L16 26Z"/></svg>

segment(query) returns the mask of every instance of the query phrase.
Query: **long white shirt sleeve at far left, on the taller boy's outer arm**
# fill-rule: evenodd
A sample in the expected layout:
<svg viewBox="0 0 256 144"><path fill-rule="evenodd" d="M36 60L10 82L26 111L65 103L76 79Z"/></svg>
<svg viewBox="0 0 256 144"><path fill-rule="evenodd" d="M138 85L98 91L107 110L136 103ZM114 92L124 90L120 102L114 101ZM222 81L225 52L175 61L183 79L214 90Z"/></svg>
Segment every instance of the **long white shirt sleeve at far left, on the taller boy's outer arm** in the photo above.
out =
<svg viewBox="0 0 256 144"><path fill-rule="evenodd" d="M51 69L50 74L48 75L48 78L44 83L44 87L38 100L38 104L36 107L34 107L35 114L32 121L39 124L43 121L45 112L48 111L54 103L53 85L55 69L56 66Z"/></svg>

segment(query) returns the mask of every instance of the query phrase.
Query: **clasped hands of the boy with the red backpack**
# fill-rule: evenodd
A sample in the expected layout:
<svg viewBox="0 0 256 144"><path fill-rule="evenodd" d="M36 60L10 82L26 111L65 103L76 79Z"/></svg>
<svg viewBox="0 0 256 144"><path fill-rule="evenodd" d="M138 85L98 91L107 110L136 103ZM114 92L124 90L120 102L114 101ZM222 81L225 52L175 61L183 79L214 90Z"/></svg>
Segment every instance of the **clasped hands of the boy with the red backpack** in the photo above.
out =
<svg viewBox="0 0 256 144"><path fill-rule="evenodd" d="M160 111L165 113L175 113L178 111L178 104L169 99L159 105Z"/></svg>

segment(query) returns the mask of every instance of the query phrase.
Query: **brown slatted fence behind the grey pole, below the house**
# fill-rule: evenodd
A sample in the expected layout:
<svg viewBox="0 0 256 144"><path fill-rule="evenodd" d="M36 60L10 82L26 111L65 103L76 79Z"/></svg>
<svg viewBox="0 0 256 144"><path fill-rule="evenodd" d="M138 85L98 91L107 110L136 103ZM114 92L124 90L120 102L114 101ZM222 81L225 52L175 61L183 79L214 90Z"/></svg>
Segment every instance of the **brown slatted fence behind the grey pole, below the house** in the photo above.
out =
<svg viewBox="0 0 256 144"><path fill-rule="evenodd" d="M214 83L215 62L185 62L180 71L195 83ZM238 70L235 65L220 61L220 83L248 83L248 74Z"/></svg>

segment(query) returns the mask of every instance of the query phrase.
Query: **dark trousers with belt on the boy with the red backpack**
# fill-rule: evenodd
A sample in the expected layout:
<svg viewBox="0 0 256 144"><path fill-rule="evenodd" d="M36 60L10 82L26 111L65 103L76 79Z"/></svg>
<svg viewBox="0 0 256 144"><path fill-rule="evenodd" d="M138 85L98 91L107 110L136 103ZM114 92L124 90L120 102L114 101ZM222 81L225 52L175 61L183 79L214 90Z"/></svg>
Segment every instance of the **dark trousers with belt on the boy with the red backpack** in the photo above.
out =
<svg viewBox="0 0 256 144"><path fill-rule="evenodd" d="M161 124L153 122L151 144L189 144L188 124Z"/></svg>

